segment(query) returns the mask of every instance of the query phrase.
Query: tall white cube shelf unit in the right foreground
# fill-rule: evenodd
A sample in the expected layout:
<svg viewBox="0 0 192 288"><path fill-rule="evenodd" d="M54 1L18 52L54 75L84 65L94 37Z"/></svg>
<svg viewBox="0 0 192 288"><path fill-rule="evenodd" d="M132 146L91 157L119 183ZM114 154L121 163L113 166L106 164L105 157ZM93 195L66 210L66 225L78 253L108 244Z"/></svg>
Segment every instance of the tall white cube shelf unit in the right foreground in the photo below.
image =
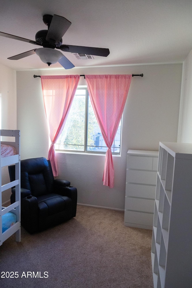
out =
<svg viewBox="0 0 192 288"><path fill-rule="evenodd" d="M155 288L192 287L192 144L160 142L152 234Z"/></svg>

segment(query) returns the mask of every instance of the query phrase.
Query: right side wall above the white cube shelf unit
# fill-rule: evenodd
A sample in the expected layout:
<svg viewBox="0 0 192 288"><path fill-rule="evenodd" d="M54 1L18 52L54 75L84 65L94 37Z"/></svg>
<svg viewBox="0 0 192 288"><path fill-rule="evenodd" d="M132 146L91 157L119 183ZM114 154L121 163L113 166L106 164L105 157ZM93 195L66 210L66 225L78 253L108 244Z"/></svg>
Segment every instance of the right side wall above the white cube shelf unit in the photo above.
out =
<svg viewBox="0 0 192 288"><path fill-rule="evenodd" d="M192 143L192 50L183 62L178 142Z"/></svg>

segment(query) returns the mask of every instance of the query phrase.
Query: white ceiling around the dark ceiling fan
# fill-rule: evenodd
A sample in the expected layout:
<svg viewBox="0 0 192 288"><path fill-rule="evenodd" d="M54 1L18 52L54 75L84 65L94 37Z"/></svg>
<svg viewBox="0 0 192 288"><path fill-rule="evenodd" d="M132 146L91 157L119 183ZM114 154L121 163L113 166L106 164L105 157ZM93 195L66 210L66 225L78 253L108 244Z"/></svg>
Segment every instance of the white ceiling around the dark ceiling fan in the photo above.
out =
<svg viewBox="0 0 192 288"><path fill-rule="evenodd" d="M36 32L47 29L44 14L72 22L63 44L110 49L109 56L91 60L63 52L76 67L177 63L192 49L192 0L0 0L0 31L35 41ZM36 54L7 59L35 48L0 36L0 63L15 70L49 68Z"/></svg>

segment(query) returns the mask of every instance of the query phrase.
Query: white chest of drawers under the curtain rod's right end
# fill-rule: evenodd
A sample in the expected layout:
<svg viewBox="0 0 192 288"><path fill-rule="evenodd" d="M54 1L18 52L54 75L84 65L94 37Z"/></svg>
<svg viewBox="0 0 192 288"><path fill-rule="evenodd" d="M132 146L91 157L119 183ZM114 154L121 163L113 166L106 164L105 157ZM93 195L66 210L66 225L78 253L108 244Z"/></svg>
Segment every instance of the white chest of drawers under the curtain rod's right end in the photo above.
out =
<svg viewBox="0 0 192 288"><path fill-rule="evenodd" d="M128 150L124 225L152 229L158 151Z"/></svg>

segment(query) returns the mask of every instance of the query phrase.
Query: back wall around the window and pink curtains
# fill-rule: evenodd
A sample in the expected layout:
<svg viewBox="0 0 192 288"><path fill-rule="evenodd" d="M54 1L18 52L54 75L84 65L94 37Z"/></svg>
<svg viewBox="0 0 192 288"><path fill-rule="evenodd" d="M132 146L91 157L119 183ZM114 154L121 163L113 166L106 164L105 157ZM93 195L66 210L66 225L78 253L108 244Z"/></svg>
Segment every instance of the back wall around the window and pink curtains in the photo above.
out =
<svg viewBox="0 0 192 288"><path fill-rule="evenodd" d="M53 74L140 74L133 77L122 121L121 156L114 156L115 186L103 185L104 155L57 153L58 178L77 187L78 202L124 209L128 149L158 150L159 141L177 141L182 64L98 67L71 70L18 71L17 129L21 159L47 157L48 129L41 79ZM84 83L80 77L80 83Z"/></svg>

